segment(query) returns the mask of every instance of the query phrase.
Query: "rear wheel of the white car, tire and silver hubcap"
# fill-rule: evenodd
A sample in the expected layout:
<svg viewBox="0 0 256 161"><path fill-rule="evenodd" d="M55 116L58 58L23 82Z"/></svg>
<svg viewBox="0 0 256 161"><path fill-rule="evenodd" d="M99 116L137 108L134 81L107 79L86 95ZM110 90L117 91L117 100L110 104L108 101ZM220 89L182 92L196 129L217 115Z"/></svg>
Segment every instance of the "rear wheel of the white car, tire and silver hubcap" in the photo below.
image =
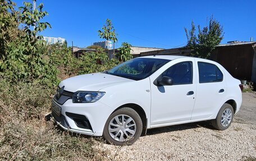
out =
<svg viewBox="0 0 256 161"><path fill-rule="evenodd" d="M217 130L226 130L230 127L234 117L234 109L230 104L223 104L217 114L216 119L212 120L212 126Z"/></svg>

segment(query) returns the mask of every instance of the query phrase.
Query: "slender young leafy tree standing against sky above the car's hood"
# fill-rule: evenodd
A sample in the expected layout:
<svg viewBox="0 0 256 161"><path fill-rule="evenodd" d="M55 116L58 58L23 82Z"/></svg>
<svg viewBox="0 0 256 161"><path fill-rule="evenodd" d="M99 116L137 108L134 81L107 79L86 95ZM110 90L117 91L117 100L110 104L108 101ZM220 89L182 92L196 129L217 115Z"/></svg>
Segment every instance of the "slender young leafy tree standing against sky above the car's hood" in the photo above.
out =
<svg viewBox="0 0 256 161"><path fill-rule="evenodd" d="M102 27L102 31L98 30L99 33L99 37L102 39L106 39L106 40L112 40L113 41L113 54L115 54L115 43L117 42L117 38L116 38L116 33L115 33L115 29L112 25L111 20L107 19L106 20L106 25L104 25Z"/></svg>

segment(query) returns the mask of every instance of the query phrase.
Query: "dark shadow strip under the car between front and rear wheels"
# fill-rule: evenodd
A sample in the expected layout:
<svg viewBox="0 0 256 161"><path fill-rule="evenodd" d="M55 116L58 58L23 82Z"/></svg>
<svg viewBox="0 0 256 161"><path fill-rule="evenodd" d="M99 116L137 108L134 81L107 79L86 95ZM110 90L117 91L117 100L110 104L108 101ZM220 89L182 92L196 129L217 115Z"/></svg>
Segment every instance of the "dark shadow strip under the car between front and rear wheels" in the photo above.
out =
<svg viewBox="0 0 256 161"><path fill-rule="evenodd" d="M204 127L204 128L209 128L211 130L214 130L214 128L211 125L211 121L201 121L201 122L185 123L181 125L173 125L173 126L148 129L147 134L145 136L161 134L164 132L183 131L183 130L189 130L191 128L199 128L199 127Z"/></svg>

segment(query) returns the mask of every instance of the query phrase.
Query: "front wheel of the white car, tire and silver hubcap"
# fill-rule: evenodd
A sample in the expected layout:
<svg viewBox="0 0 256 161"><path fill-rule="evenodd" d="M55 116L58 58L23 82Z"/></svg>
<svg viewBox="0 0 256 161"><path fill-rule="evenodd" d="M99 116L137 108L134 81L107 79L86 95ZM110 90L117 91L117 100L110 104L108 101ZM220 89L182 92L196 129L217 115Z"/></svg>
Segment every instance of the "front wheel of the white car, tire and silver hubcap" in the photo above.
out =
<svg viewBox="0 0 256 161"><path fill-rule="evenodd" d="M103 137L109 144L131 145L139 139L142 128L139 114L132 108L124 107L108 117Z"/></svg>

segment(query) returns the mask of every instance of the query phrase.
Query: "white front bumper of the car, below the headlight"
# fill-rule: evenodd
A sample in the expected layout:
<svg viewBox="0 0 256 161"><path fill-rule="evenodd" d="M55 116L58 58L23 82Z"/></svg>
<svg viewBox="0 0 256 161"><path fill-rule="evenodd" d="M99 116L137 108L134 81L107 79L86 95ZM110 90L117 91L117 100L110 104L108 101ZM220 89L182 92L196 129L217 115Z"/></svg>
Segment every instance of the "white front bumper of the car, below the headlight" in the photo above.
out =
<svg viewBox="0 0 256 161"><path fill-rule="evenodd" d="M63 105L58 104L55 100L52 101L61 108L61 116L57 116L56 113L52 112L54 121L58 126L66 131L89 136L102 136L104 125L114 111L113 108L99 101L95 103L72 103L72 100L68 99ZM84 116L89 122L89 126L86 126L88 128L81 128L77 124L77 120L70 116L70 113Z"/></svg>

